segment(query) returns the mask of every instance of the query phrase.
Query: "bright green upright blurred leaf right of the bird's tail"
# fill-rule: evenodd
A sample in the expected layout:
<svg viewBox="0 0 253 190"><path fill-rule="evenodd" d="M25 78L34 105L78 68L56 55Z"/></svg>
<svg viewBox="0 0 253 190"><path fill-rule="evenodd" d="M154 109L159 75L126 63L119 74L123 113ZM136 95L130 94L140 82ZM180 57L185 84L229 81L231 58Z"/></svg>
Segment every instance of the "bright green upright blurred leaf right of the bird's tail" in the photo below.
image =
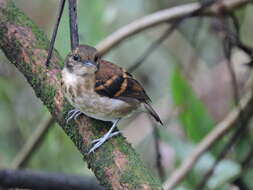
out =
<svg viewBox="0 0 253 190"><path fill-rule="evenodd" d="M197 143L212 129L214 122L177 67L171 73L171 88L172 99L179 108L179 120L188 137Z"/></svg>

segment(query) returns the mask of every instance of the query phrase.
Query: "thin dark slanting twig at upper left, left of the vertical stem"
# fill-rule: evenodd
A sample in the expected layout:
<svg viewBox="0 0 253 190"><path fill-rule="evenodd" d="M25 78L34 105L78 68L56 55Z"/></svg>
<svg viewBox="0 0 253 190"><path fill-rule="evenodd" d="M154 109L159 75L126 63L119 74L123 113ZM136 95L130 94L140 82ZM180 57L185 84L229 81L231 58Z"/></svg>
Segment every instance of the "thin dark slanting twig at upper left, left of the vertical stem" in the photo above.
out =
<svg viewBox="0 0 253 190"><path fill-rule="evenodd" d="M49 49L48 49L48 56L47 56L47 60L46 60L46 66L47 67L49 67L50 59L52 57L54 43L55 43L58 28L59 28L59 24L60 24L60 21L61 21L62 13L63 13L63 10L64 10L64 5L65 5L65 0L61 0L60 5L59 5L59 11L58 11L58 14L57 14L57 21L56 21L56 24L54 26L54 31L53 31L51 41L50 41L50 45L49 45Z"/></svg>

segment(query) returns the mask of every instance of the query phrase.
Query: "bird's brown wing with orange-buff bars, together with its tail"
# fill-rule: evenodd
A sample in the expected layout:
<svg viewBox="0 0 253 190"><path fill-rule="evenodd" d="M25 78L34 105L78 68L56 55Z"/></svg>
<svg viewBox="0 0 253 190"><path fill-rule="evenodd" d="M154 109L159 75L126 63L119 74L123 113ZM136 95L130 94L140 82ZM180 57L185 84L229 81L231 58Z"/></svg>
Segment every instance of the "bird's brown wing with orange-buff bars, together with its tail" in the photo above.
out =
<svg viewBox="0 0 253 190"><path fill-rule="evenodd" d="M110 62L100 60L96 72L95 91L110 98L139 101L162 124L159 116L149 105L151 101L141 84L132 75Z"/></svg>

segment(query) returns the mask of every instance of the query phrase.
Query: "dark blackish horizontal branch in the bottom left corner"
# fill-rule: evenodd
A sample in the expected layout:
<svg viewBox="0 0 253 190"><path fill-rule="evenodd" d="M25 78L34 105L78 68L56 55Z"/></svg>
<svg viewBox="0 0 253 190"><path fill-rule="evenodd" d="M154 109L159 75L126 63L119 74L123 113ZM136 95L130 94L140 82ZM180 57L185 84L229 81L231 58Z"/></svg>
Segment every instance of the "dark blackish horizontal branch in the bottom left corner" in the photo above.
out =
<svg viewBox="0 0 253 190"><path fill-rule="evenodd" d="M27 170L0 170L0 188L103 190L95 178Z"/></svg>

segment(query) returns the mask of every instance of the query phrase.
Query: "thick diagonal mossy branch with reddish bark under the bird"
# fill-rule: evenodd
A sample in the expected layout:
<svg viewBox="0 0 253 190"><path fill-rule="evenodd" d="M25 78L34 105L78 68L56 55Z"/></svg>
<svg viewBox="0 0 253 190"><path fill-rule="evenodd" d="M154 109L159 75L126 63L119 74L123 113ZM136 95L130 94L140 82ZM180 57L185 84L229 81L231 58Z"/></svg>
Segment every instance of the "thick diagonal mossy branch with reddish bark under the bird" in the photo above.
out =
<svg viewBox="0 0 253 190"><path fill-rule="evenodd" d="M86 154L91 141L101 137L109 124L85 116L66 124L71 107L61 91L63 60L54 52L50 67L46 68L48 46L45 34L11 0L0 0L0 48L74 142L101 185L117 190L162 189L123 136L110 139L89 156Z"/></svg>

